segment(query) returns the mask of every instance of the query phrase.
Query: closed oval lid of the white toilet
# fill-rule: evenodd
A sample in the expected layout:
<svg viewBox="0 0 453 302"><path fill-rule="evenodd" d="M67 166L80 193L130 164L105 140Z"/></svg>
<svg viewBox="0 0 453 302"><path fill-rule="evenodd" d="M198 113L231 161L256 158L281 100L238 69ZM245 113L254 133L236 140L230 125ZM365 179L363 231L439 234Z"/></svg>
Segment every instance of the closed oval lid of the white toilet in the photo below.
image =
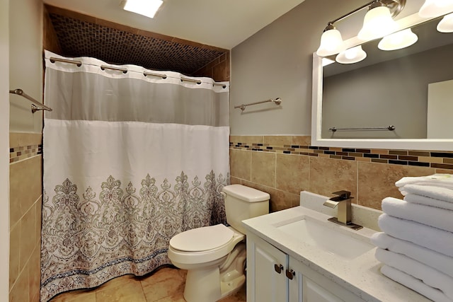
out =
<svg viewBox="0 0 453 302"><path fill-rule="evenodd" d="M170 245L184 252L203 252L229 243L233 236L234 231L223 224L217 224L179 233L171 238Z"/></svg>

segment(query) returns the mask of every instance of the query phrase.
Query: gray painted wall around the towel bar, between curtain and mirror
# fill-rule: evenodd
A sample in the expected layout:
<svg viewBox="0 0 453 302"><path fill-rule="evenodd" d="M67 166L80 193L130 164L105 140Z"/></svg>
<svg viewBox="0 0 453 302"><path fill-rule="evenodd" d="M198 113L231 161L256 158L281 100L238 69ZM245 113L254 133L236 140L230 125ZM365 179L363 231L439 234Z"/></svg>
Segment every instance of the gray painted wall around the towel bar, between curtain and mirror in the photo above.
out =
<svg viewBox="0 0 453 302"><path fill-rule="evenodd" d="M423 2L423 1L421 1ZM231 50L231 135L311 134L312 54L323 29L362 6L360 0L306 0ZM420 1L413 0L420 8ZM406 4L398 18L414 10ZM418 9L416 8L416 9ZM336 23L343 39L357 35L365 11ZM241 112L235 105L269 98L282 105L254 105Z"/></svg>

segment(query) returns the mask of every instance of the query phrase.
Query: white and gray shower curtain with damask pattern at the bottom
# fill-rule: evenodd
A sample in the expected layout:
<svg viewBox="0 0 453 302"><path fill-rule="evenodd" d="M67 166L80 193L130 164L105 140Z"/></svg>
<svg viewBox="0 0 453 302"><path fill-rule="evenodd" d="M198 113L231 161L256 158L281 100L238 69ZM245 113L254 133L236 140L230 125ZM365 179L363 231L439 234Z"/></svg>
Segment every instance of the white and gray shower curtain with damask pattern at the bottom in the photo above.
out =
<svg viewBox="0 0 453 302"><path fill-rule="evenodd" d="M64 58L45 52L41 301L171 263L172 236L226 223L229 182L227 82L52 57Z"/></svg>

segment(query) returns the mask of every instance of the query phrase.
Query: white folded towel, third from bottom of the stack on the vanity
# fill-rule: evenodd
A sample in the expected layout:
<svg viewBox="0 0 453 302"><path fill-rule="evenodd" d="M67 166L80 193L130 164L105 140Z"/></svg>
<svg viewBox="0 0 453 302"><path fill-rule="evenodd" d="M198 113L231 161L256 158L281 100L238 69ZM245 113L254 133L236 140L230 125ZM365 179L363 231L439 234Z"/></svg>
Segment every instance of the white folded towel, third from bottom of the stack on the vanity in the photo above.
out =
<svg viewBox="0 0 453 302"><path fill-rule="evenodd" d="M394 238L384 232L374 233L371 240L378 248L406 255L453 278L453 257L423 248L423 246L406 240Z"/></svg>

